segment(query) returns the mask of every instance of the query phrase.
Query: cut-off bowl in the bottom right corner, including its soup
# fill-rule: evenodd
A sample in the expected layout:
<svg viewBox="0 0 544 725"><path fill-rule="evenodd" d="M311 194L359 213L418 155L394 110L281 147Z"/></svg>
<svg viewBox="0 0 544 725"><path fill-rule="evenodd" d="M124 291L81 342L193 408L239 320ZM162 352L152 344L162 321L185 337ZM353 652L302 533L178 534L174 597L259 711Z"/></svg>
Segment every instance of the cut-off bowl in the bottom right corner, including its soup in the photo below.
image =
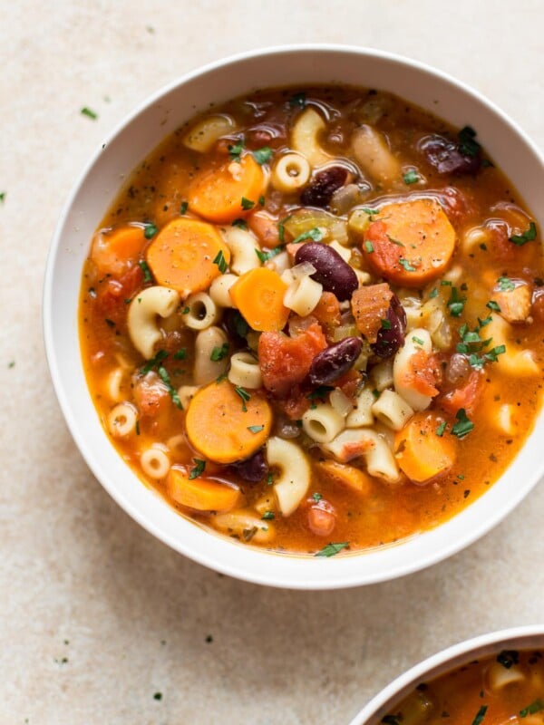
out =
<svg viewBox="0 0 544 725"><path fill-rule="evenodd" d="M351 725L541 725L544 632L520 627L456 644L415 665Z"/></svg>

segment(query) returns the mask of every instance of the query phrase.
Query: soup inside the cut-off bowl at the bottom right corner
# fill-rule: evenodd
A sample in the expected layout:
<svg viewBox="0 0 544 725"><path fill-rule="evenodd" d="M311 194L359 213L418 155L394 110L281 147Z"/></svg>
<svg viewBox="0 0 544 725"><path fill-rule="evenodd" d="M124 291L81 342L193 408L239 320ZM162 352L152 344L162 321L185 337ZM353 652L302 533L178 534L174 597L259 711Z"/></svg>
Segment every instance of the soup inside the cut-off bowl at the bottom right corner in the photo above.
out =
<svg viewBox="0 0 544 725"><path fill-rule="evenodd" d="M472 659L417 688L382 720L389 725L542 725L544 652L504 650Z"/></svg>

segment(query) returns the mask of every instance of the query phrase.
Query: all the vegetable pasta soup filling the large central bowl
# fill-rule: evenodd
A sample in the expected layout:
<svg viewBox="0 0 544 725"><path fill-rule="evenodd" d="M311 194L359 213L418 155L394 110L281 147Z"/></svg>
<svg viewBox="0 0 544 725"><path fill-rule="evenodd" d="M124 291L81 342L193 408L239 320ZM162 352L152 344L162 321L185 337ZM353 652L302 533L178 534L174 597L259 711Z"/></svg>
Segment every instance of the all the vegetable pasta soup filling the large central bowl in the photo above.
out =
<svg viewBox="0 0 544 725"><path fill-rule="evenodd" d="M273 90L138 165L84 266L83 363L180 515L332 556L439 525L509 466L541 403L544 266L477 131Z"/></svg>

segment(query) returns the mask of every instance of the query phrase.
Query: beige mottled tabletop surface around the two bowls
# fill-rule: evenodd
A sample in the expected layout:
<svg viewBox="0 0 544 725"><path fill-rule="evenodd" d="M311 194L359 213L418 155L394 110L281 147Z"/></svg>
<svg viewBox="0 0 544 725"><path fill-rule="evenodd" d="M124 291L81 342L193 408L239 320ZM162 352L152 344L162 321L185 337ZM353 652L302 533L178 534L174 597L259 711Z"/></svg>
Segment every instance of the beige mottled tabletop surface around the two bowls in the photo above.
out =
<svg viewBox="0 0 544 725"><path fill-rule="evenodd" d="M540 0L4 0L0 17L0 725L342 725L444 645L543 620L542 485L470 549L390 584L273 591L174 554L83 464L40 321L74 179L164 83L268 44L366 44L469 82L542 147Z"/></svg>

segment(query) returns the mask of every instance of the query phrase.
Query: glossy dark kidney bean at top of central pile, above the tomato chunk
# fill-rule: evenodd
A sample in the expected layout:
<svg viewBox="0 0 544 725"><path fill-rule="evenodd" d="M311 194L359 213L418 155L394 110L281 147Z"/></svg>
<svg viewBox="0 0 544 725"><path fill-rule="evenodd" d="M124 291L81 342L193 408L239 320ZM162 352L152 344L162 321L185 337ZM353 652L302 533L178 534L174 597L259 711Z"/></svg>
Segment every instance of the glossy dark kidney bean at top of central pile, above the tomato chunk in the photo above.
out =
<svg viewBox="0 0 544 725"><path fill-rule="evenodd" d="M316 272L310 275L312 279L323 285L325 292L332 292L343 302L348 300L359 286L354 270L326 244L309 242L296 250L295 263L310 262L316 267Z"/></svg>

